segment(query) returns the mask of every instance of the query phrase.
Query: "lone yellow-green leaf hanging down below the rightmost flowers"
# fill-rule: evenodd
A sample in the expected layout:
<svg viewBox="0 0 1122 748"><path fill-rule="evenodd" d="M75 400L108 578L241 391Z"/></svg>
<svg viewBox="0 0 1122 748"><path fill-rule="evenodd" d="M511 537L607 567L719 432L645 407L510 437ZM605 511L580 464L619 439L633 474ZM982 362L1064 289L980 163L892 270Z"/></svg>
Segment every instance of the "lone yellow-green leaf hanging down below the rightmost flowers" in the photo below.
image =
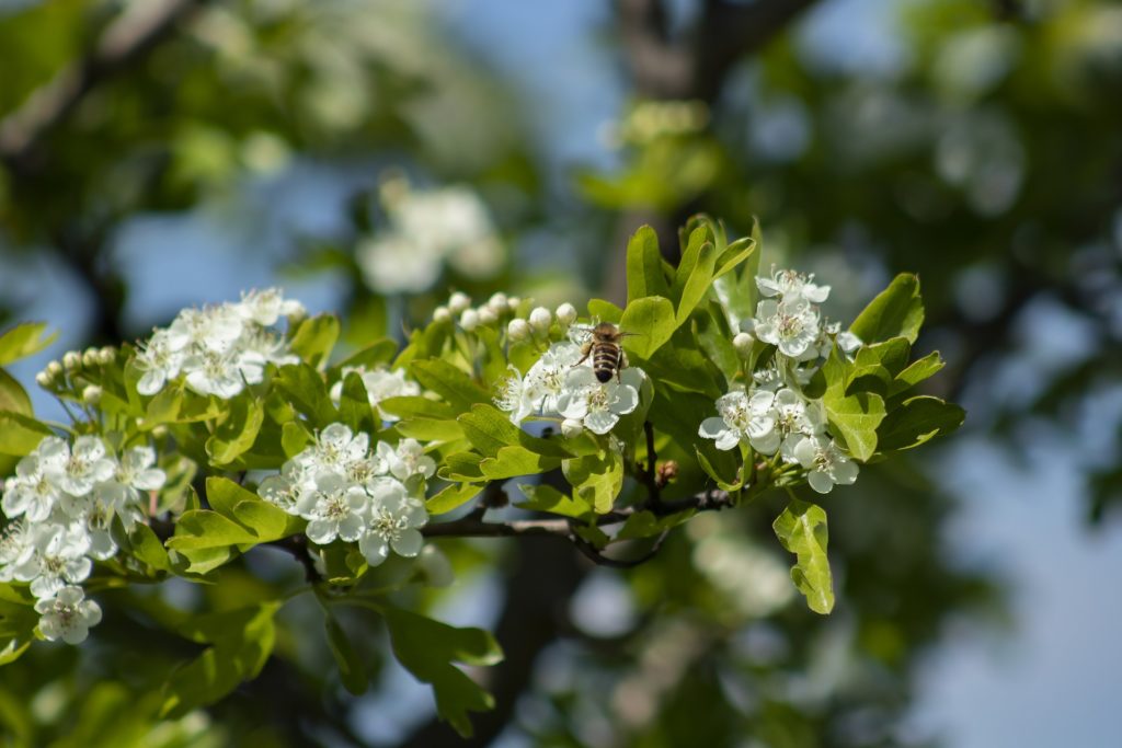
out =
<svg viewBox="0 0 1122 748"><path fill-rule="evenodd" d="M816 613L830 612L834 609L834 580L826 558L829 543L826 512L817 505L791 499L772 527L783 547L795 555L791 580L807 598L807 604Z"/></svg>

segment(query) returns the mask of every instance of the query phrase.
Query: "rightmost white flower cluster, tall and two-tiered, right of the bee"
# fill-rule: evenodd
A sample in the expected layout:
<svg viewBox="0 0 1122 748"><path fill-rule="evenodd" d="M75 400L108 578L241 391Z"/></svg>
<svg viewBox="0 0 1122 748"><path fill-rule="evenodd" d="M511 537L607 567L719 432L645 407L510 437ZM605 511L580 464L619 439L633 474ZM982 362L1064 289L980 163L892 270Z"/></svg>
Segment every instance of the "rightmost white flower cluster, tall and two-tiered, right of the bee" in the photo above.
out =
<svg viewBox="0 0 1122 748"><path fill-rule="evenodd" d="M807 471L807 482L819 493L835 484L857 480L857 463L828 433L821 400L810 399L802 386L818 362L837 344L848 353L861 345L850 332L824 322L818 304L826 301L829 286L813 283L813 276L793 270L772 270L756 279L764 298L746 333L775 345L772 363L754 372L746 389L734 389L717 399L718 416L701 422L698 435L716 440L718 450L741 444L760 454L798 464Z"/></svg>

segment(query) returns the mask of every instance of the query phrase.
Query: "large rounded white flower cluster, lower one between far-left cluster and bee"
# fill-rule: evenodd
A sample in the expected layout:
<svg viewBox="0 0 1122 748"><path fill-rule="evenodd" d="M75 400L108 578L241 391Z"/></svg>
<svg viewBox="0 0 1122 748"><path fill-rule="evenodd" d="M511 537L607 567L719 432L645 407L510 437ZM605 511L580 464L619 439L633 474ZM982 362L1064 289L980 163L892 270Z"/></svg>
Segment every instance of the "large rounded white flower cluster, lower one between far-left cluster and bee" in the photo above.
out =
<svg viewBox="0 0 1122 748"><path fill-rule="evenodd" d="M393 550L402 556L421 552L417 529L429 520L424 482L436 463L416 440L370 450L367 434L331 424L315 442L261 481L258 493L291 515L307 520L307 538L318 545L358 542L371 566Z"/></svg>

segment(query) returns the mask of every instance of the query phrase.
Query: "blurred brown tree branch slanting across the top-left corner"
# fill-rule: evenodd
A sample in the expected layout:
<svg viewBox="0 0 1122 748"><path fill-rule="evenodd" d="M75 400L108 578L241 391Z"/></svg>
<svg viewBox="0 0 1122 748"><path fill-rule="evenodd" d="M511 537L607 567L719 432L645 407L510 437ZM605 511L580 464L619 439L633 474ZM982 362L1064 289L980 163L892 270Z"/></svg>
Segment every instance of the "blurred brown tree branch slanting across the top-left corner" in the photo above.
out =
<svg viewBox="0 0 1122 748"><path fill-rule="evenodd" d="M0 160L17 175L35 170L37 146L94 87L135 64L168 37L175 26L209 0L149 0L109 25L93 50L49 83L31 92L21 107L0 120Z"/></svg>

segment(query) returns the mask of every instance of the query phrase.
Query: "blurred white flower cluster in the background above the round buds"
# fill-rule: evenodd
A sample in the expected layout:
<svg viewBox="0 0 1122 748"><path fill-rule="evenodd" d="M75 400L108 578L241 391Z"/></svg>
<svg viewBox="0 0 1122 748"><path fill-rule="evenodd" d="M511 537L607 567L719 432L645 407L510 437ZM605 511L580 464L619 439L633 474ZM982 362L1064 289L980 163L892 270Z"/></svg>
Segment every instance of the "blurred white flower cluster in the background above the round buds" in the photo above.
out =
<svg viewBox="0 0 1122 748"><path fill-rule="evenodd" d="M362 240L356 251L367 285L383 294L431 288L445 260L469 278L489 278L505 255L487 206L461 187L413 190L393 178L379 192L387 228Z"/></svg>

